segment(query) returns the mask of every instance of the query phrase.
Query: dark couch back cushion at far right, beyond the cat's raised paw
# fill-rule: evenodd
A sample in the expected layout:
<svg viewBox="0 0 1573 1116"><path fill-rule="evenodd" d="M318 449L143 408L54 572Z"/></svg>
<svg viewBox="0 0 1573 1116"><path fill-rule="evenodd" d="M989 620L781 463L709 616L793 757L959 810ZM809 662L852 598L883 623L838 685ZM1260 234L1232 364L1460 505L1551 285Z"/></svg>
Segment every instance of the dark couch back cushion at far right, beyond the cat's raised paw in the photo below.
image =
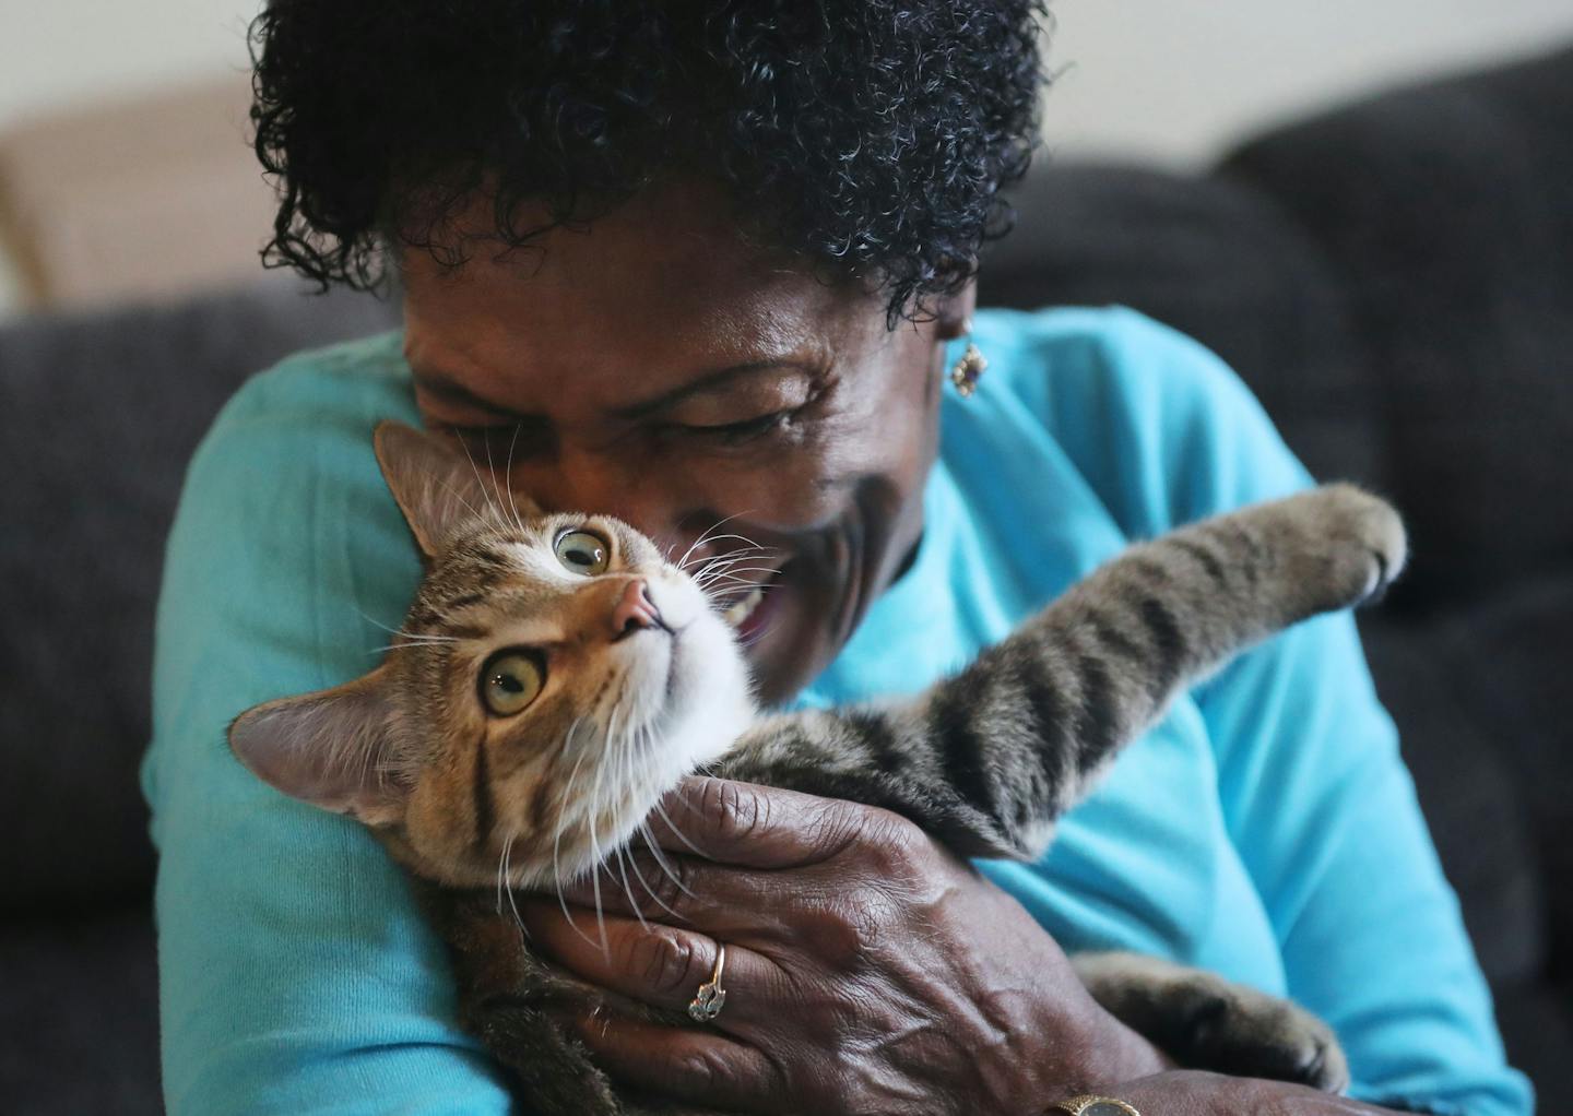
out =
<svg viewBox="0 0 1573 1116"><path fill-rule="evenodd" d="M1247 145L1254 185L1350 292L1405 599L1480 597L1573 555L1573 50L1402 90Z"/></svg>

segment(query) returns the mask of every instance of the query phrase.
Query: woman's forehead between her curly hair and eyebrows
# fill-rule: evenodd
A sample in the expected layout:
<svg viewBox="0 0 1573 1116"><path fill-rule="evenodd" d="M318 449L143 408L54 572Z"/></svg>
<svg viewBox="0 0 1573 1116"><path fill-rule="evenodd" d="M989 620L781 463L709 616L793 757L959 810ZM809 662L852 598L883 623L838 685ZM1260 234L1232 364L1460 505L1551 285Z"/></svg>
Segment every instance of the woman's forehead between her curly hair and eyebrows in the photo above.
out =
<svg viewBox="0 0 1573 1116"><path fill-rule="evenodd" d="M882 332L884 305L749 245L695 193L612 211L540 245L466 245L448 267L407 250L406 352L417 373L538 396L554 384L609 404L738 365L813 363L849 330ZM698 195L703 196L703 195ZM477 231L489 207L473 212Z"/></svg>

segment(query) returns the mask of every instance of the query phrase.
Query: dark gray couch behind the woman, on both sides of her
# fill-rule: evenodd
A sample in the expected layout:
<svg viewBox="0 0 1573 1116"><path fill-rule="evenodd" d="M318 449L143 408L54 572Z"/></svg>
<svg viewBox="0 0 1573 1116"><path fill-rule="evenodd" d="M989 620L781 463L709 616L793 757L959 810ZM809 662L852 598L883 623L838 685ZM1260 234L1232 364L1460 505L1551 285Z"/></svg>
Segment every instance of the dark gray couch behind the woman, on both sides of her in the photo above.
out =
<svg viewBox="0 0 1573 1116"><path fill-rule="evenodd" d="M1123 302L1213 346L1323 476L1406 511L1367 621L1543 1110L1573 1111L1573 53L1400 90L1214 173L1049 167L983 302ZM0 1096L157 1111L135 767L162 538L223 398L393 311L280 286L0 330Z"/></svg>

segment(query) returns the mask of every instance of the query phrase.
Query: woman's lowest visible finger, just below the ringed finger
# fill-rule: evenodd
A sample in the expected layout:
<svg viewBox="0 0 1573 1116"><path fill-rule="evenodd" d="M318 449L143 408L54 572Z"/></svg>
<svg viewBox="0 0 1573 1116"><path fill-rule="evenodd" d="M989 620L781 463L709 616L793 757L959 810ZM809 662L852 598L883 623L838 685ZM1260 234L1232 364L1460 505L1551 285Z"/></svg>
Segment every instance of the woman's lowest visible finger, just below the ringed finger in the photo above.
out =
<svg viewBox="0 0 1573 1116"><path fill-rule="evenodd" d="M705 1111L788 1111L780 1070L747 1042L606 1012L579 1017L573 1026L607 1074L637 1089Z"/></svg>

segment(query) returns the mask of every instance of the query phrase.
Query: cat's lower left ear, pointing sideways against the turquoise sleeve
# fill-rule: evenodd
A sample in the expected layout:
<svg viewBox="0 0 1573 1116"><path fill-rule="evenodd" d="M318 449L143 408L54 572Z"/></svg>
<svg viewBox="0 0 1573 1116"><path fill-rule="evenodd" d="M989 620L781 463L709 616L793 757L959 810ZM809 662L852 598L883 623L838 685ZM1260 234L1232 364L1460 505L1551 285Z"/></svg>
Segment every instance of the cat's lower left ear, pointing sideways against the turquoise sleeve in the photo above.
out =
<svg viewBox="0 0 1573 1116"><path fill-rule="evenodd" d="M230 725L230 748L293 798L367 825L396 822L404 791L387 772L393 710L385 671L253 706Z"/></svg>

